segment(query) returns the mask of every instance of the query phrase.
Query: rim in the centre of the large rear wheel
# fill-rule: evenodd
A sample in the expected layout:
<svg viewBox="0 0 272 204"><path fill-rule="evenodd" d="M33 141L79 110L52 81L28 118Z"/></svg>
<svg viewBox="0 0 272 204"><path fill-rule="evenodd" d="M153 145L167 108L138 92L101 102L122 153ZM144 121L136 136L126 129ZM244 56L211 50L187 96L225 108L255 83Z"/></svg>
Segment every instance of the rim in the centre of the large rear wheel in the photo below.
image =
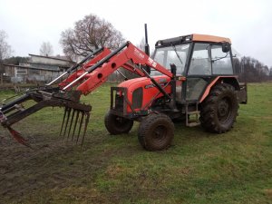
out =
<svg viewBox="0 0 272 204"><path fill-rule="evenodd" d="M223 98L218 106L218 118L220 122L228 121L232 111L232 104L228 97Z"/></svg>

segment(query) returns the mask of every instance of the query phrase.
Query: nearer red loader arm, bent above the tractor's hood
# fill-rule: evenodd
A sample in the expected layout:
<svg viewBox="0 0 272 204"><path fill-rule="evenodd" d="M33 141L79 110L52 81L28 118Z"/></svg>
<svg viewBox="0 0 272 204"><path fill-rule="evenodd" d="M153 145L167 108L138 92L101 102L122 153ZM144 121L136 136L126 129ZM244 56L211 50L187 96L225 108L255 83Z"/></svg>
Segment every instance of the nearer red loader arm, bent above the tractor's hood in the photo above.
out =
<svg viewBox="0 0 272 204"><path fill-rule="evenodd" d="M76 90L87 95L102 83L105 83L108 76L121 67L132 73L145 76L147 73L144 71L144 67L146 66L149 66L170 78L172 77L172 73L161 66L160 63L156 63L149 55L142 52L130 42L127 42L126 44L122 44L121 47L114 52L105 56L98 63L94 63L91 67L85 69L85 73L81 73L77 79L63 87L63 91L69 90L81 82Z"/></svg>

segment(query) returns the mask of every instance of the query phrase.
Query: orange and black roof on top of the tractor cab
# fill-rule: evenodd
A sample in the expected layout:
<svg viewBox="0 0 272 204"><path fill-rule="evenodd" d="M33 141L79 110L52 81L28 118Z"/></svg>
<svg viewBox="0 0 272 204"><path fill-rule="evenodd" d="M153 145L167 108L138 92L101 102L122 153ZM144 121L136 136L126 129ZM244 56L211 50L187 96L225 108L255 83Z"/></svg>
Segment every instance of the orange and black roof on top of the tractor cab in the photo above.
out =
<svg viewBox="0 0 272 204"><path fill-rule="evenodd" d="M158 41L155 46L169 46L172 44L184 44L184 43L190 43L190 42L208 42L208 43L222 43L222 42L228 42L231 44L231 41L229 38L226 37L219 37L215 35L209 35L209 34L189 34L189 35L183 35L179 37L169 38L165 40Z"/></svg>

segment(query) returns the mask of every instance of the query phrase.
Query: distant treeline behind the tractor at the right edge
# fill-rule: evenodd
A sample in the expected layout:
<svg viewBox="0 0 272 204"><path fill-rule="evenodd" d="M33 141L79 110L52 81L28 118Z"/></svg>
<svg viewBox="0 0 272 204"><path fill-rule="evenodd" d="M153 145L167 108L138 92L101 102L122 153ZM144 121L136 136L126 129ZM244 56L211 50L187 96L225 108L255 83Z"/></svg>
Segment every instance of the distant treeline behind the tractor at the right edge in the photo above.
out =
<svg viewBox="0 0 272 204"><path fill-rule="evenodd" d="M272 81L272 67L269 69L267 65L252 57L233 58L233 63L240 82L261 83Z"/></svg>

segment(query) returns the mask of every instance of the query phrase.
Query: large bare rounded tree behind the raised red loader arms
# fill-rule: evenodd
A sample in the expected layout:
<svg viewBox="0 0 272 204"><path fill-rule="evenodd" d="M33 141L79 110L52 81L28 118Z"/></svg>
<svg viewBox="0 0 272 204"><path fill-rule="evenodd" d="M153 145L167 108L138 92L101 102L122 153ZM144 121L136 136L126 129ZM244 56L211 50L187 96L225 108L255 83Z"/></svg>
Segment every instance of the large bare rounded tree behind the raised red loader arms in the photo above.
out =
<svg viewBox="0 0 272 204"><path fill-rule="evenodd" d="M86 15L73 29L62 32L63 53L71 59L87 56L99 47L117 48L124 42L121 32L97 15Z"/></svg>

